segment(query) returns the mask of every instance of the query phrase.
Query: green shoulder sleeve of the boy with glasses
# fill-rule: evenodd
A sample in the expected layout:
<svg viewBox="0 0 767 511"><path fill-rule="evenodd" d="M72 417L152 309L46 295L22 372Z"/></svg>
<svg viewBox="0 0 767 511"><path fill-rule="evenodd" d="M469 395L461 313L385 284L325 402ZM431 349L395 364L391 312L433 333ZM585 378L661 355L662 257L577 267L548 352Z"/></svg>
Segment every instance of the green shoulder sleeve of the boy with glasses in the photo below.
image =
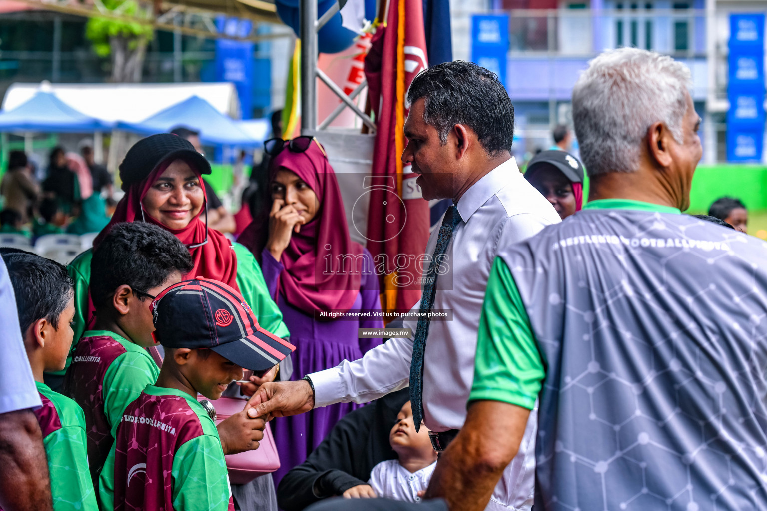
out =
<svg viewBox="0 0 767 511"><path fill-rule="evenodd" d="M110 364L101 391L113 438L125 408L136 401L146 385L153 385L159 375L160 369L143 353L125 352Z"/></svg>

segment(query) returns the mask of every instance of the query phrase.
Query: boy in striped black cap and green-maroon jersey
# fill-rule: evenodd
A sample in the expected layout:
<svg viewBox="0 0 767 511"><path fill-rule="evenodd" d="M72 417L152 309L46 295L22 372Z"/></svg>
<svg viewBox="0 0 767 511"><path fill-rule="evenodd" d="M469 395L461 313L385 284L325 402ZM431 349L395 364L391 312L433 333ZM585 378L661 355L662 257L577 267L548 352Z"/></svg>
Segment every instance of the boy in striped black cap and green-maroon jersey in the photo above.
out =
<svg viewBox="0 0 767 511"><path fill-rule="evenodd" d="M259 327L242 295L216 280L177 283L153 310L163 368L123 413L99 480L102 509L233 511L216 412L197 395L218 399L243 368L266 372L295 348ZM263 430L254 412L236 415Z"/></svg>

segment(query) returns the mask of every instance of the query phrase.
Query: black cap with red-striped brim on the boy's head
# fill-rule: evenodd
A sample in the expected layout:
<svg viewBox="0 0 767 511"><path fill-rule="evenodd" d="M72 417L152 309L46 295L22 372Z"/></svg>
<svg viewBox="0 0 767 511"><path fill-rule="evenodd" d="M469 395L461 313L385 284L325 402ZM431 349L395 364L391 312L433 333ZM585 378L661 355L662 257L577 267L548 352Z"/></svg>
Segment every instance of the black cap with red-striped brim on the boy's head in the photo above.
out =
<svg viewBox="0 0 767 511"><path fill-rule="evenodd" d="M163 290L152 303L154 339L167 348L211 349L244 369L262 372L295 346L258 326L242 295L197 277Z"/></svg>

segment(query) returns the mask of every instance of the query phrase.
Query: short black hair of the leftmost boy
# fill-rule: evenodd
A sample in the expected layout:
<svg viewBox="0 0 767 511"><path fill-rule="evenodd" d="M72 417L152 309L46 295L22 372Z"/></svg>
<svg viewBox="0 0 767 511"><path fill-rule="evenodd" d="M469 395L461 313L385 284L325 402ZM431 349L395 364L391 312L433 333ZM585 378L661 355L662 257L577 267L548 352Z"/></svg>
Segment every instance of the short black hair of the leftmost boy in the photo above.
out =
<svg viewBox="0 0 767 511"><path fill-rule="evenodd" d="M74 296L74 282L67 269L54 260L24 251L2 252L16 295L21 335L38 319L47 319L58 330L61 313Z"/></svg>

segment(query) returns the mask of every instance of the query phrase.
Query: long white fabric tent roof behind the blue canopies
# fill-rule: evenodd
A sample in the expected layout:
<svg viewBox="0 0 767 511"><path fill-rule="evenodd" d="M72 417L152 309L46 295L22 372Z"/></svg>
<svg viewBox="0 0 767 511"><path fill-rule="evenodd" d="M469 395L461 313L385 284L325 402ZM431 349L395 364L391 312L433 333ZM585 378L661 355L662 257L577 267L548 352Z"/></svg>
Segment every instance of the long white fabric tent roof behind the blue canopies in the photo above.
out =
<svg viewBox="0 0 767 511"><path fill-rule="evenodd" d="M75 110L107 123L139 123L189 97L198 96L220 113L239 116L239 97L233 84L12 84L2 108L12 110L47 90Z"/></svg>

